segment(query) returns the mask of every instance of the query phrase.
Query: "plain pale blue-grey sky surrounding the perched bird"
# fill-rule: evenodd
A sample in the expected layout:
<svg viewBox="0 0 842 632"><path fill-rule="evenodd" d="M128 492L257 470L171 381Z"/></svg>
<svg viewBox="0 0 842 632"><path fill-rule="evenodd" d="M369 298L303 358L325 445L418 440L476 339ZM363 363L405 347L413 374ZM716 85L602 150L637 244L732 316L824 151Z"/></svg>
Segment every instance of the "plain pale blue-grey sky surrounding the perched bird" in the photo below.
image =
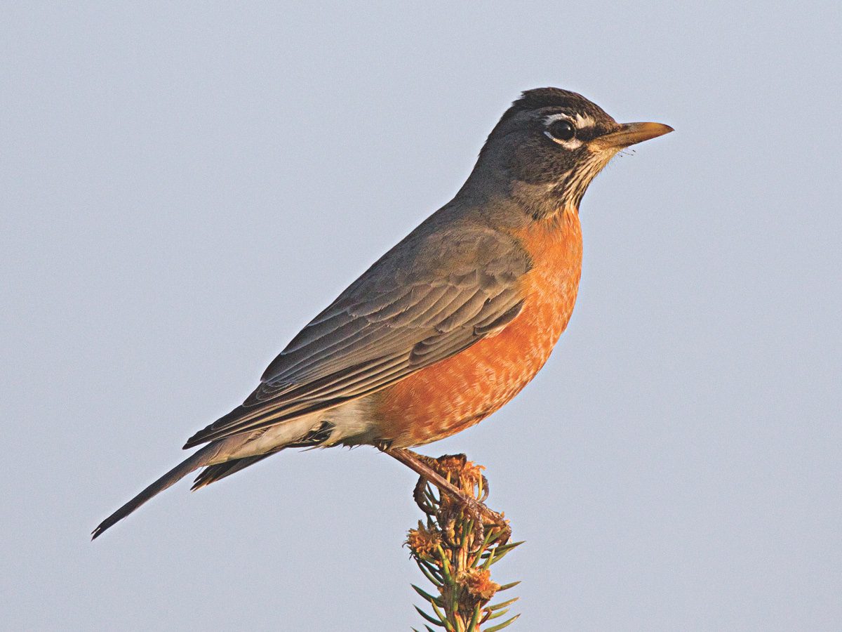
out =
<svg viewBox="0 0 842 632"><path fill-rule="evenodd" d="M4 3L2 627L418 626L368 447L88 534L553 85L676 131L585 195L544 370L423 450L527 542L512 629L839 629L840 6Z"/></svg>

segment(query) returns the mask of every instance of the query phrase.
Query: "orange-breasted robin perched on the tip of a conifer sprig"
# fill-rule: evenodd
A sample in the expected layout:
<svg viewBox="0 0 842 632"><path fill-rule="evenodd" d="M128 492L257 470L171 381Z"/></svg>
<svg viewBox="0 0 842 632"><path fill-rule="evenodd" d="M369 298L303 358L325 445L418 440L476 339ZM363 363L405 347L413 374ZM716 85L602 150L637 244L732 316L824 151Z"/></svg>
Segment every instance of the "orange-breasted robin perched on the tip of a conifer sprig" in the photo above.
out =
<svg viewBox="0 0 842 632"><path fill-rule="evenodd" d="M411 448L474 426L536 376L576 302L585 190L616 153L670 131L618 123L562 88L520 94L453 199L306 324L242 404L184 445L199 449L93 538L196 470L194 490L293 447L377 447L459 495Z"/></svg>

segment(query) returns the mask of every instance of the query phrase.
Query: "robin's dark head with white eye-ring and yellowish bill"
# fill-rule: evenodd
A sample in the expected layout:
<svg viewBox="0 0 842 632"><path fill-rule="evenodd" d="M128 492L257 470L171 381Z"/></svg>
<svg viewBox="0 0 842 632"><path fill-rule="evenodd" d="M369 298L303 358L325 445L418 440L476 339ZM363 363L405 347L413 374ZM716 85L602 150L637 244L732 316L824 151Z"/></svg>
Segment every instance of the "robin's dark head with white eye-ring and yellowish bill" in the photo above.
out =
<svg viewBox="0 0 842 632"><path fill-rule="evenodd" d="M530 215L546 217L578 208L590 181L623 147L669 131L660 123L617 123L581 94L536 88L506 110L475 174L507 183Z"/></svg>

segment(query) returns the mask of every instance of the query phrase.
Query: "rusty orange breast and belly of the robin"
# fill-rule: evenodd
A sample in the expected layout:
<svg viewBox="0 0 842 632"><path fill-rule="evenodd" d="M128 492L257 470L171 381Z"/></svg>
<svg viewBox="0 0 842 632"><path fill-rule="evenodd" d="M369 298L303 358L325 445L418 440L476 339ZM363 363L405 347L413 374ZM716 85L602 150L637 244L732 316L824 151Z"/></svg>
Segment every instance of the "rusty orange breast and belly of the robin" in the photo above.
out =
<svg viewBox="0 0 842 632"><path fill-rule="evenodd" d="M567 327L582 270L578 214L515 233L532 257L524 308L498 335L422 369L374 398L381 436L395 447L449 437L491 415L544 366Z"/></svg>

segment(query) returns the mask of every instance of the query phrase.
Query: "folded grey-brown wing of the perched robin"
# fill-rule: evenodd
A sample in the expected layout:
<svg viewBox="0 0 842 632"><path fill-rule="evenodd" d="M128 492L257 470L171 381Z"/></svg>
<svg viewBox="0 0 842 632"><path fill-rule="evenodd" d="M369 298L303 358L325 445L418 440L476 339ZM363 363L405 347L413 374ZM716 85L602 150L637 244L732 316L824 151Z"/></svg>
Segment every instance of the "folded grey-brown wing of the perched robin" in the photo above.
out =
<svg viewBox="0 0 842 632"><path fill-rule="evenodd" d="M374 393L509 324L530 260L483 227L413 233L306 325L237 409L185 447Z"/></svg>

